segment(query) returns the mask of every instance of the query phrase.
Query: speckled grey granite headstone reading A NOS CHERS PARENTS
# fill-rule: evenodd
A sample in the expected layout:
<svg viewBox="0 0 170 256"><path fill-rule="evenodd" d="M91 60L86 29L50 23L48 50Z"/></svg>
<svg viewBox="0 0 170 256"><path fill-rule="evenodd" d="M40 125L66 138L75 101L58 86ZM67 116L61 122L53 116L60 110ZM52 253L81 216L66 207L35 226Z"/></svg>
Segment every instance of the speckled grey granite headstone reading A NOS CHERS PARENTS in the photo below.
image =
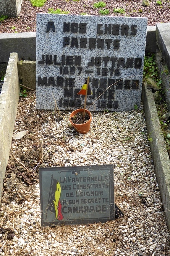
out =
<svg viewBox="0 0 170 256"><path fill-rule="evenodd" d="M140 106L147 18L37 13L36 107L75 110L87 77L87 109Z"/></svg>

